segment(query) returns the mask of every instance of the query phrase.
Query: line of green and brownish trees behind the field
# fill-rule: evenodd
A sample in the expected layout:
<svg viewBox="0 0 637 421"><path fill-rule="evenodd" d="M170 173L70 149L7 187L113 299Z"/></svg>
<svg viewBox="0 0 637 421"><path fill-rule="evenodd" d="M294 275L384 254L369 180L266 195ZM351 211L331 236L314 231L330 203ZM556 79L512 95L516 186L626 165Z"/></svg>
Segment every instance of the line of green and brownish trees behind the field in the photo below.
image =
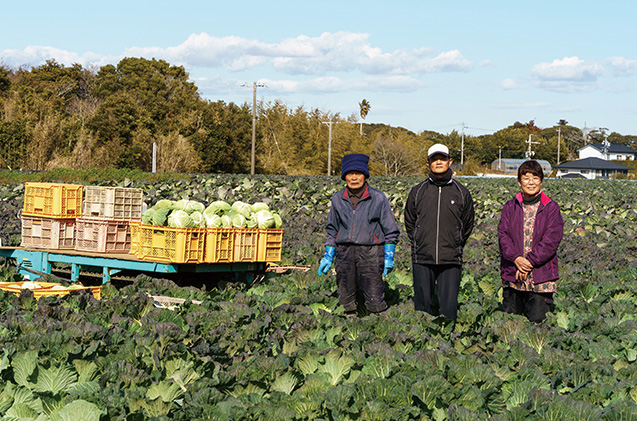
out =
<svg viewBox="0 0 637 421"><path fill-rule="evenodd" d="M248 173L251 168L252 105L205 100L181 66L163 60L125 58L117 65L84 68L55 60L31 69L0 66L0 167L129 168L150 171L153 144L158 172ZM371 109L360 104L364 119ZM498 156L523 158L528 139L535 159L576 159L586 143L634 147L637 136L608 129L583 133L558 121L539 128L533 121L484 136L414 133L402 127L367 124L358 116L320 109L290 108L277 100L256 107L256 172L323 175L340 158L360 152L371 156L374 174L426 173L429 146L449 146L466 173Z"/></svg>

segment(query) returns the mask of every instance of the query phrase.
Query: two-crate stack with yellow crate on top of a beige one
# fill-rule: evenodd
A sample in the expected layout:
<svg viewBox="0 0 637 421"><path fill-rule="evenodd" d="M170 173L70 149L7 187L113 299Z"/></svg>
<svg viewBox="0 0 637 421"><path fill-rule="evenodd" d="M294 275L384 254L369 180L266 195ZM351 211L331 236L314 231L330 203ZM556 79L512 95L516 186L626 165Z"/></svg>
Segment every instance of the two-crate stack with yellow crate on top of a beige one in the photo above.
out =
<svg viewBox="0 0 637 421"><path fill-rule="evenodd" d="M75 248L75 222L82 215L84 186L25 183L22 208L22 247Z"/></svg>

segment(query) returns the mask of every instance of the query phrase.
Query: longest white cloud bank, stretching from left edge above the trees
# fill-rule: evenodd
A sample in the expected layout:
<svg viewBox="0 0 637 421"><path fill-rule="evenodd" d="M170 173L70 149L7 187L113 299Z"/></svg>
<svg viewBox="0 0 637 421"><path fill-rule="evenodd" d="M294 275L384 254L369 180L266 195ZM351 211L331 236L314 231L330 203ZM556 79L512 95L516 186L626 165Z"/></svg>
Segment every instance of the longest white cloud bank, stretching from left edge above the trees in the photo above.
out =
<svg viewBox="0 0 637 421"><path fill-rule="evenodd" d="M188 68L218 68L242 71L271 66L286 74L322 75L357 71L368 75L409 75L466 72L475 65L458 50L438 54L431 48L398 49L384 52L369 42L369 34L335 32L318 37L300 35L277 43L236 36L213 37L192 34L174 47L133 47L119 57L92 53L77 54L52 47L28 47L24 51L5 50L3 60L11 64L39 65L55 58L61 63L117 63L123 57L164 59Z"/></svg>

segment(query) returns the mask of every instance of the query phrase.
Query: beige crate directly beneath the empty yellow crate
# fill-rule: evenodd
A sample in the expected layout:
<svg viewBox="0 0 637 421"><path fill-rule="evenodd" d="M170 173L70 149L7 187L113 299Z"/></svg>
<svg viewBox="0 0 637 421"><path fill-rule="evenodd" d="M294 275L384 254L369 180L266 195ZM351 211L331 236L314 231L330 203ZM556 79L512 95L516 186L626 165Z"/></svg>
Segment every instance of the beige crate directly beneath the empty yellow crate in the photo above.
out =
<svg viewBox="0 0 637 421"><path fill-rule="evenodd" d="M44 249L75 248L75 219L57 219L24 216L22 220L22 247Z"/></svg>

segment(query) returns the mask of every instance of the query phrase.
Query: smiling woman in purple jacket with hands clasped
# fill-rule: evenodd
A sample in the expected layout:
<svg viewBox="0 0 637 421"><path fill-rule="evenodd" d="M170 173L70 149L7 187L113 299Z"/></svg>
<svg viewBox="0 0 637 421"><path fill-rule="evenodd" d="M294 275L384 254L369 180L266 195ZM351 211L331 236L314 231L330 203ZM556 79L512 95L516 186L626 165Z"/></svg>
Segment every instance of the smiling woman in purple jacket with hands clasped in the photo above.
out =
<svg viewBox="0 0 637 421"><path fill-rule="evenodd" d="M498 224L504 311L535 323L544 320L553 303L564 227L559 205L542 191L543 180L537 161L522 163L522 192L504 204Z"/></svg>

